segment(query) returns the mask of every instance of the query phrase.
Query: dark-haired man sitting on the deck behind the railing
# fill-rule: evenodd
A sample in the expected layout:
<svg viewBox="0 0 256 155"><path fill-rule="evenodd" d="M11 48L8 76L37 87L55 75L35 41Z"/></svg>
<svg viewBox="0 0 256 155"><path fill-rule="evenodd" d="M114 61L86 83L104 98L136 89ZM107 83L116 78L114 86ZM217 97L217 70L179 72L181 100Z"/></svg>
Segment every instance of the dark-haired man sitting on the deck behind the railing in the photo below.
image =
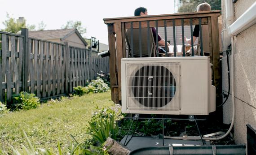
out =
<svg viewBox="0 0 256 155"><path fill-rule="evenodd" d="M148 12L146 8L143 7L139 7L137 9L135 9L134 11L134 16L147 16ZM152 29L152 33L153 33L153 37L154 37L154 42L156 43L156 30L154 27L151 28ZM158 44L159 46L165 46L165 40L161 38L161 36L159 34L157 34L158 36ZM167 46L169 46L170 44L167 42Z"/></svg>

